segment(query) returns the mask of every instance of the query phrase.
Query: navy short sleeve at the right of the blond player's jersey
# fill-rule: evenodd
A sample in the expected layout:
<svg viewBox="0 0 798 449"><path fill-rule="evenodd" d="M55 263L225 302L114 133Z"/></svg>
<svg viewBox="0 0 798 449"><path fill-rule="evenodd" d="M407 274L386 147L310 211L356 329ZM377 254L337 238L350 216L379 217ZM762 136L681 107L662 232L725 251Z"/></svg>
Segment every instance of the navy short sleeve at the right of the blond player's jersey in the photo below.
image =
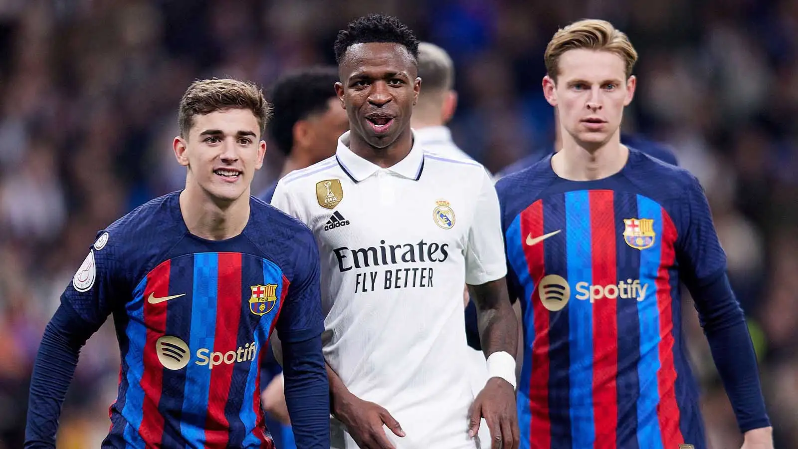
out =
<svg viewBox="0 0 798 449"><path fill-rule="evenodd" d="M681 207L681 238L677 240L681 276L688 287L705 285L721 276L726 255L717 239L704 189L690 177Z"/></svg>

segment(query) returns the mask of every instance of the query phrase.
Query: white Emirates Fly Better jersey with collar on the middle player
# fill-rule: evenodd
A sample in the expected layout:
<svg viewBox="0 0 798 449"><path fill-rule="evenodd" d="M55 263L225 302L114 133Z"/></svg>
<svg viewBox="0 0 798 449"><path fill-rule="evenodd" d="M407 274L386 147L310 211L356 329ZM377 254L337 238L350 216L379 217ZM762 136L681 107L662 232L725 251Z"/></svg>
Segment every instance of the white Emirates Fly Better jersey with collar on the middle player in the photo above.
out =
<svg viewBox="0 0 798 449"><path fill-rule="evenodd" d="M476 447L463 285L507 272L496 189L474 161L416 144L382 169L348 143L283 177L271 203L316 236L327 363L399 421L404 438L385 428L397 447Z"/></svg>

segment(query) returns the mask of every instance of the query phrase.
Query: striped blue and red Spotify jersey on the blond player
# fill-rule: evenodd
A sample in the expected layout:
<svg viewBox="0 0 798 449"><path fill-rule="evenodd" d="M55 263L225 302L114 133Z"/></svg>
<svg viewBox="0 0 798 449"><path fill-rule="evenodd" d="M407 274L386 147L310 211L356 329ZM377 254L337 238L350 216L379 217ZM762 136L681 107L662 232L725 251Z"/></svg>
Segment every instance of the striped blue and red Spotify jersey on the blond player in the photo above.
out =
<svg viewBox="0 0 798 449"><path fill-rule="evenodd" d="M549 156L496 189L523 310L521 447L703 449L679 282L720 276L725 254L695 177L630 149L602 180L560 178Z"/></svg>

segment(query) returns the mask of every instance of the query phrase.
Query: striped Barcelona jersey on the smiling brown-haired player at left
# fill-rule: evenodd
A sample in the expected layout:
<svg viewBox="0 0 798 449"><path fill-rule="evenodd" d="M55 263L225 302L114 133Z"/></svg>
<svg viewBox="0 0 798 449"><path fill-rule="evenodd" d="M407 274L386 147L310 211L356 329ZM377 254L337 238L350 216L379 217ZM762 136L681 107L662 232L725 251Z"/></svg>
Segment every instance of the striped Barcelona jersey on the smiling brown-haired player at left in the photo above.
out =
<svg viewBox="0 0 798 449"><path fill-rule="evenodd" d="M323 330L313 234L251 198L239 236L204 240L179 197L101 231L61 297L97 328L114 317L120 380L103 446L273 447L259 363L275 328L283 341Z"/></svg>

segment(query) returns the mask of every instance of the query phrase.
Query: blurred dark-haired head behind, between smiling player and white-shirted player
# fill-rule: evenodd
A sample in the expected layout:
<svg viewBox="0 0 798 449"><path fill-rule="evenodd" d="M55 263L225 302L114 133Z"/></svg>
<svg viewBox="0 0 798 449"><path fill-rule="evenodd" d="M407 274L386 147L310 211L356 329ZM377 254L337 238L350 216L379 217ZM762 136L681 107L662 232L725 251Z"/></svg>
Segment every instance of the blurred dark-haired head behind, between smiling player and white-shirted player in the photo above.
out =
<svg viewBox="0 0 798 449"><path fill-rule="evenodd" d="M271 88L274 117L269 124L272 142L286 160L279 177L323 161L335 153L338 137L349 129L346 112L335 96L338 69L318 66L285 74ZM258 197L266 202L277 181Z"/></svg>

